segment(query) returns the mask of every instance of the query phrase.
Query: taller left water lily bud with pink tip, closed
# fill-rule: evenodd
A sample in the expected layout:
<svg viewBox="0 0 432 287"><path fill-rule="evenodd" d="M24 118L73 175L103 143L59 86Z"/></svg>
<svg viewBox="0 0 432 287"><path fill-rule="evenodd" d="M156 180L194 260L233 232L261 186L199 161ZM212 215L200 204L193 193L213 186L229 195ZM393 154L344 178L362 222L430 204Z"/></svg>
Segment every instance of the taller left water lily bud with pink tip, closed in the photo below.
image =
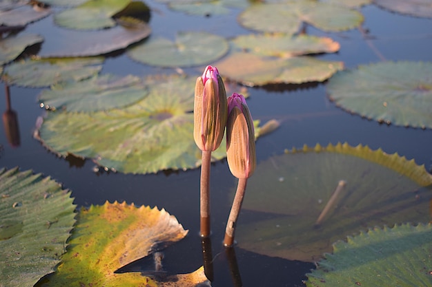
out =
<svg viewBox="0 0 432 287"><path fill-rule="evenodd" d="M228 108L225 86L217 68L207 66L197 78L193 138L202 151L214 151L224 138Z"/></svg>

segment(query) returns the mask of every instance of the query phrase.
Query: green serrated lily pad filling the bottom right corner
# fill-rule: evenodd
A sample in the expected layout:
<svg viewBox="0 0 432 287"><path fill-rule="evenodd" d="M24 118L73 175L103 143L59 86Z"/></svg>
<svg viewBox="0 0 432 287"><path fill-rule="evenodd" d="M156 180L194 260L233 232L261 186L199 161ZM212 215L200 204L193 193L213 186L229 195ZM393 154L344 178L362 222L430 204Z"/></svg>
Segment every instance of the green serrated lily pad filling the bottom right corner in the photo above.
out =
<svg viewBox="0 0 432 287"><path fill-rule="evenodd" d="M432 225L369 229L333 245L306 286L432 286Z"/></svg>

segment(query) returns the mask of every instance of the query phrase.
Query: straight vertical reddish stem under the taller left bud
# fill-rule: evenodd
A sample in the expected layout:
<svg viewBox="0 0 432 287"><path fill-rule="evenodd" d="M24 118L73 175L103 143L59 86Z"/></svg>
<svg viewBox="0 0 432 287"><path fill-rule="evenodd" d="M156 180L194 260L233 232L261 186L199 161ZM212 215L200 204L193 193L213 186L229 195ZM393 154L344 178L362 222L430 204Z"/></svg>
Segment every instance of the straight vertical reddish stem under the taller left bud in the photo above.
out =
<svg viewBox="0 0 432 287"><path fill-rule="evenodd" d="M199 215L201 236L210 236L210 164L211 151L202 151Z"/></svg>

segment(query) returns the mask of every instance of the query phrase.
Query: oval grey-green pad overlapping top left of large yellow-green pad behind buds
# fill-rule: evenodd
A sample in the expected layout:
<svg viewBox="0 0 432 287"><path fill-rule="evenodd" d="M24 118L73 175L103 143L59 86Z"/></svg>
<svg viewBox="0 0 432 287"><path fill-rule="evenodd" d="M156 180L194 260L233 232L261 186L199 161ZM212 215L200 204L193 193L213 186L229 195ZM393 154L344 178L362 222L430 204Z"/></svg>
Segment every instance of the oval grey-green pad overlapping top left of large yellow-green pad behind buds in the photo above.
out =
<svg viewBox="0 0 432 287"><path fill-rule="evenodd" d="M63 83L46 89L39 100L46 109L68 111L104 111L137 103L148 89L137 76L95 76L87 81Z"/></svg>

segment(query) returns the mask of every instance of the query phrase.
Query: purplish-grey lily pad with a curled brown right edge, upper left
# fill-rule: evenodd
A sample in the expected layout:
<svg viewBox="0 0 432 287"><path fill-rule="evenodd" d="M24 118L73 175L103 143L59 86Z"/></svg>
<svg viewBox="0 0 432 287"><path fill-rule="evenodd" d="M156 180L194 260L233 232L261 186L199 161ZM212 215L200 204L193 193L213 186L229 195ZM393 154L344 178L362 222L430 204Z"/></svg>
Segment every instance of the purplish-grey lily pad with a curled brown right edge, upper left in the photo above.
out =
<svg viewBox="0 0 432 287"><path fill-rule="evenodd" d="M124 49L150 35L151 29L146 23L127 18L122 21L126 28L117 26L101 31L61 31L55 38L55 45L50 46L52 50L41 51L40 54L43 57L96 56Z"/></svg>

